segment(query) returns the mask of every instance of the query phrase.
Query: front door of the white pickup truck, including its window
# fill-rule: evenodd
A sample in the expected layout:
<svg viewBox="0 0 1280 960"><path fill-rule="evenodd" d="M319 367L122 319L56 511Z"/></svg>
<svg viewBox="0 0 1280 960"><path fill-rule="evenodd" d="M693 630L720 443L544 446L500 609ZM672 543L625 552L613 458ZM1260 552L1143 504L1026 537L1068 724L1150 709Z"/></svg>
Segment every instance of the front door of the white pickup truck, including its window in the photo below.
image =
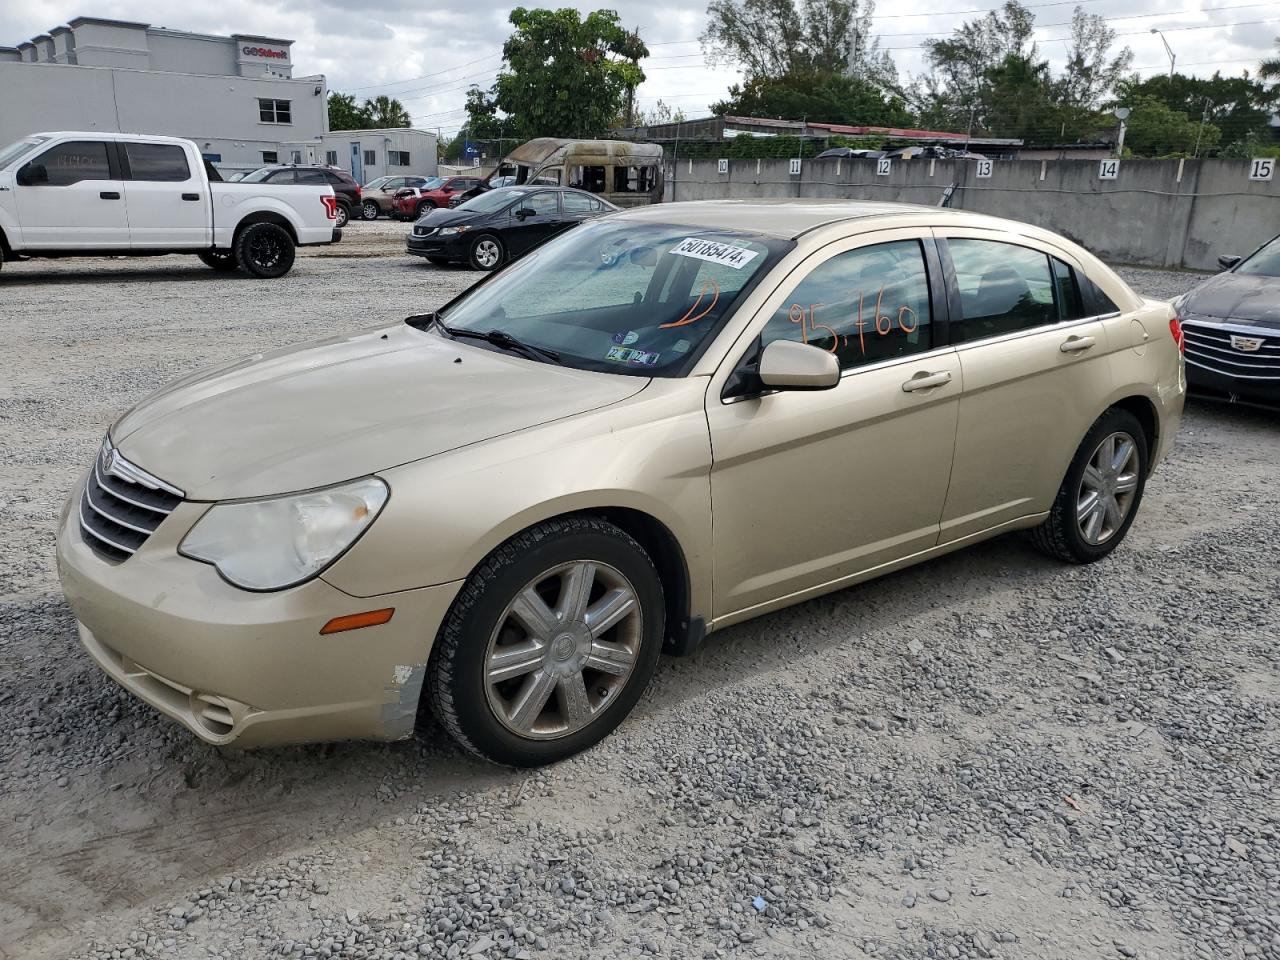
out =
<svg viewBox="0 0 1280 960"><path fill-rule="evenodd" d="M18 168L14 193L28 250L128 250L115 145L72 140Z"/></svg>

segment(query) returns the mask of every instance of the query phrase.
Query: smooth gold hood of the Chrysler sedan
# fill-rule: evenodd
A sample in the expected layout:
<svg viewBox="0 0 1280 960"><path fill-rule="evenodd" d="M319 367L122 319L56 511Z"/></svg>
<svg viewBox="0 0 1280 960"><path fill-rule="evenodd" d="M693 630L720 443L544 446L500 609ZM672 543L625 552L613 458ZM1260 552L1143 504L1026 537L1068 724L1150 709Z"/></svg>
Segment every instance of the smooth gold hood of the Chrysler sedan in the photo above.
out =
<svg viewBox="0 0 1280 960"><path fill-rule="evenodd" d="M617 403L648 383L402 325L200 371L125 413L111 439L189 499L265 497Z"/></svg>

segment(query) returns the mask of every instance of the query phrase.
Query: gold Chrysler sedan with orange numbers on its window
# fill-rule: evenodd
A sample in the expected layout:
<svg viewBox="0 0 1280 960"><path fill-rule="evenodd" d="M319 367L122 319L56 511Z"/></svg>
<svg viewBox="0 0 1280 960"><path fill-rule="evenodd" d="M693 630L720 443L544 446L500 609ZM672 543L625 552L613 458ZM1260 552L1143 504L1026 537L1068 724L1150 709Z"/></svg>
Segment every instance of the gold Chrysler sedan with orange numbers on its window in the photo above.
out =
<svg viewBox="0 0 1280 960"><path fill-rule="evenodd" d="M143 401L59 570L102 669L212 744L408 737L425 700L549 763L731 623L1011 530L1105 557L1180 348L1167 303L1025 224L640 207Z"/></svg>

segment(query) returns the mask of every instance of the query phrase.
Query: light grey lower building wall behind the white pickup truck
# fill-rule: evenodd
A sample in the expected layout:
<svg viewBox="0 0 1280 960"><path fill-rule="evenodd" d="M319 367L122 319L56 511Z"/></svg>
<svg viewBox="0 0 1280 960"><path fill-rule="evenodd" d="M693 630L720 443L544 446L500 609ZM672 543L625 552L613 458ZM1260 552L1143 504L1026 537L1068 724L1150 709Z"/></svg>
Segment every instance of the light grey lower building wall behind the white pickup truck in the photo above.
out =
<svg viewBox="0 0 1280 960"><path fill-rule="evenodd" d="M282 141L319 143L329 125L323 79L0 61L0 145L40 131L154 133L193 140L229 169L256 169L264 151L279 152ZM293 123L262 123L259 99L291 101Z"/></svg>

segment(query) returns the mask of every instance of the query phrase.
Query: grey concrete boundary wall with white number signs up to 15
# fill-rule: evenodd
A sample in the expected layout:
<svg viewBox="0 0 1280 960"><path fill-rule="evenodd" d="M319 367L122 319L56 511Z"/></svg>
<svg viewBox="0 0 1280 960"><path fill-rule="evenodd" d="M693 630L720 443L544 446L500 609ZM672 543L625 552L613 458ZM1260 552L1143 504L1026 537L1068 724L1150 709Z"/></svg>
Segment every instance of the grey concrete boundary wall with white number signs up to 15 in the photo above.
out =
<svg viewBox="0 0 1280 960"><path fill-rule="evenodd" d="M1151 266L1217 269L1219 253L1244 253L1280 233L1280 172L1248 179L1248 160L1124 160L1114 180L1097 160L998 161L977 178L963 160L893 161L878 177L874 160L787 160L668 164L672 200L721 197L841 197L936 206L955 184L950 206L1024 220L1056 230L1105 260ZM1277 164L1280 166L1280 164Z"/></svg>

